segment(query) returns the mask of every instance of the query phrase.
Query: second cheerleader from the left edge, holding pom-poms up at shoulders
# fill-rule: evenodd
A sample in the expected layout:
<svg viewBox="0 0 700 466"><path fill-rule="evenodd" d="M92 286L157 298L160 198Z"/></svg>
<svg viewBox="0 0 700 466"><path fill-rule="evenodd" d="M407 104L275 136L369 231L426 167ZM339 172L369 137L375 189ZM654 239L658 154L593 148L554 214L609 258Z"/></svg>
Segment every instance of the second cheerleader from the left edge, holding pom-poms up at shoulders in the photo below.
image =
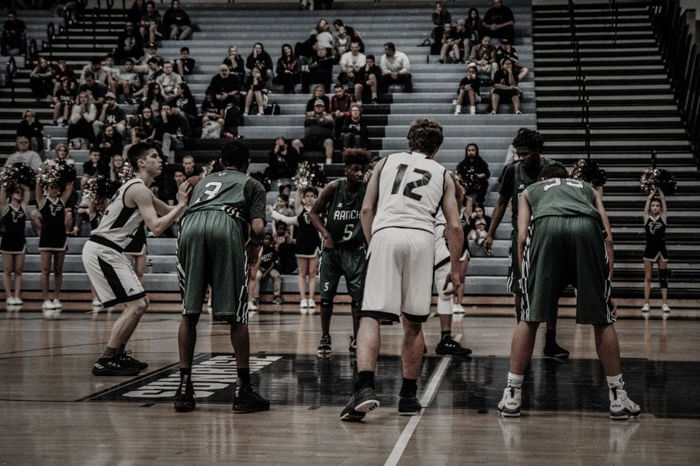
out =
<svg viewBox="0 0 700 466"><path fill-rule="evenodd" d="M52 317L61 312L61 285L63 284L63 261L66 257L66 204L73 194L73 183L66 184L61 192L58 181L52 181L43 189L39 180L36 183L36 203L41 215L41 235L39 252L41 254L41 291L44 303L41 309L45 317ZM54 291L53 299L49 296L49 279L53 262Z"/></svg>

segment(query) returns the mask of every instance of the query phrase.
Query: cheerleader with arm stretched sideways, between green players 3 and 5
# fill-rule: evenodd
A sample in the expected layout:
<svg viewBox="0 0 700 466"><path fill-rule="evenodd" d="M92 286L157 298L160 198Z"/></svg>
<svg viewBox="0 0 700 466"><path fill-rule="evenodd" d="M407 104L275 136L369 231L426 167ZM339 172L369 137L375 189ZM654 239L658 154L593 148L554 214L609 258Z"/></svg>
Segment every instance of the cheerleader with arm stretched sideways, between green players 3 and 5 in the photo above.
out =
<svg viewBox="0 0 700 466"><path fill-rule="evenodd" d="M294 200L296 217L288 217L272 210L272 218L280 220L287 225L296 226L296 248L295 255L297 265L299 266L299 293L301 294L301 303L299 304L301 313L308 312L313 314L316 303L314 302L314 294L316 293L316 272L318 269L318 255L321 249L321 237L318 231L311 224L309 213L311 207L316 202L318 192L313 186L305 188L303 191L298 190L296 199ZM309 281L308 299L306 298L306 280Z"/></svg>

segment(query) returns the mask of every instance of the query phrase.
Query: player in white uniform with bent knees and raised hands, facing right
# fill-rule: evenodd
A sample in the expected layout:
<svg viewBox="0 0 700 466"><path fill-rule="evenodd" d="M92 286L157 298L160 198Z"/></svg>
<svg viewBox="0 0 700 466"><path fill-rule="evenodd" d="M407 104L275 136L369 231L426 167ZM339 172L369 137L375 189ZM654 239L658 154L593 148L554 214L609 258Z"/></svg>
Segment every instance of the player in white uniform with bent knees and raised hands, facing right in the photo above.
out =
<svg viewBox="0 0 700 466"><path fill-rule="evenodd" d="M128 156L138 175L119 188L83 247L83 265L102 304L105 307L126 304L112 327L104 353L93 365L95 375L136 375L148 367L124 351L146 312L148 298L123 250L142 220L156 236L175 223L187 208L191 189L188 183L183 183L177 193L178 204L165 204L148 188L163 170L158 151L148 143L138 143L129 148Z"/></svg>

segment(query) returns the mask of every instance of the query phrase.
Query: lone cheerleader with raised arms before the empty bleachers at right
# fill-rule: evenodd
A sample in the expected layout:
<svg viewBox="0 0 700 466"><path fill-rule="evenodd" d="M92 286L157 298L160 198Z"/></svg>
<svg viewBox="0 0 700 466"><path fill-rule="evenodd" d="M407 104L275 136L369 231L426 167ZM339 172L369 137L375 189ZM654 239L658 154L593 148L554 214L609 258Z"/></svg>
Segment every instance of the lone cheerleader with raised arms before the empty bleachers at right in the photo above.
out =
<svg viewBox="0 0 700 466"><path fill-rule="evenodd" d="M658 197L656 195L658 194ZM668 307L668 252L666 251L666 225L668 210L663 191L655 189L647 197L644 206L644 233L647 244L644 248L644 305L642 312L649 312L649 295L651 294L651 276L654 262L659 266L659 285L661 287L661 310L671 312Z"/></svg>

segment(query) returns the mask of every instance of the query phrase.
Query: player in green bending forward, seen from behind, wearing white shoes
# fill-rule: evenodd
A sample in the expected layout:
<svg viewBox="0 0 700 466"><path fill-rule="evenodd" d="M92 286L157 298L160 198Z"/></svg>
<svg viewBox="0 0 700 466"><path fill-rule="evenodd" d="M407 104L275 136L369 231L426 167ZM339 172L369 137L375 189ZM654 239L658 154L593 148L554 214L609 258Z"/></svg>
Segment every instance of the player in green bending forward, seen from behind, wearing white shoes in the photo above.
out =
<svg viewBox="0 0 700 466"><path fill-rule="evenodd" d="M562 291L572 285L577 289L576 322L594 327L610 388L610 418L638 416L641 409L623 389L620 347L612 325L613 243L601 195L588 183L568 179L566 170L556 165L543 168L540 179L544 181L523 192L518 206L523 313L513 335L508 387L498 410L503 416L520 416L523 377L537 327L554 319Z"/></svg>

